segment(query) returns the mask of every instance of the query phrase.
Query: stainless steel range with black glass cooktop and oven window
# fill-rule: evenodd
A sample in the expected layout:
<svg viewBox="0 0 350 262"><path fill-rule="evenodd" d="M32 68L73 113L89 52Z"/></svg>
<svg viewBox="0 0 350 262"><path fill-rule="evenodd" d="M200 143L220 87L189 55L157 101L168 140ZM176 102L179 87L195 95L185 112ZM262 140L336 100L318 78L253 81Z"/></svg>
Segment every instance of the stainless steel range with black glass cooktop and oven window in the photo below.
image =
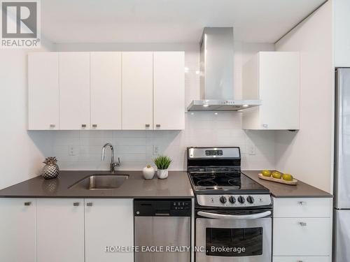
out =
<svg viewBox="0 0 350 262"><path fill-rule="evenodd" d="M239 147L188 147L197 262L272 261L272 198L241 173Z"/></svg>

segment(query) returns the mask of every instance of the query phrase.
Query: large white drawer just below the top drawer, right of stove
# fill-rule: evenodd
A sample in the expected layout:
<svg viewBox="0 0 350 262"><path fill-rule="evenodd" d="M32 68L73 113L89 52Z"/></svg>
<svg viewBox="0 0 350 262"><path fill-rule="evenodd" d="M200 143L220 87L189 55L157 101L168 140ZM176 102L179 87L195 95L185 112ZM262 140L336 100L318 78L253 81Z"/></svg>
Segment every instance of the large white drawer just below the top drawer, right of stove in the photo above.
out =
<svg viewBox="0 0 350 262"><path fill-rule="evenodd" d="M275 218L274 256L330 256L330 218Z"/></svg>

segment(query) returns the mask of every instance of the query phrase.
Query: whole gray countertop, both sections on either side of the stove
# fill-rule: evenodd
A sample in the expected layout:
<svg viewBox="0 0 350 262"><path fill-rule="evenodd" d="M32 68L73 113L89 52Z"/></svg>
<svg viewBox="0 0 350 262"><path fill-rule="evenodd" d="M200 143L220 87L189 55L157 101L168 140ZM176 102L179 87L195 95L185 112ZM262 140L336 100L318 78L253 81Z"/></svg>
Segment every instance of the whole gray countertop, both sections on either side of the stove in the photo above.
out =
<svg viewBox="0 0 350 262"><path fill-rule="evenodd" d="M269 189L276 198L331 198L321 189L299 181L296 186L260 180L259 171L244 170L245 175ZM61 171L59 177L44 180L34 177L0 190L0 197L23 198L193 198L193 190L186 171L169 171L166 180L144 180L141 171L118 171L116 174L128 174L129 178L118 189L87 190L69 189L69 187L93 174L109 174L107 171Z"/></svg>

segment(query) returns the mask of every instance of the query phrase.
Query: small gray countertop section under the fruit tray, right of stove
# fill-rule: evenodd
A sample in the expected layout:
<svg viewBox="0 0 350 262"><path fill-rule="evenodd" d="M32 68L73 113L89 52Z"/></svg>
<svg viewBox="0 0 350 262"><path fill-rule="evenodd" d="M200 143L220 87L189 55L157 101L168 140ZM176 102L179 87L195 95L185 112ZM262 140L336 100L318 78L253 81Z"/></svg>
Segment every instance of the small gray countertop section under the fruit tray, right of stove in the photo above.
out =
<svg viewBox="0 0 350 262"><path fill-rule="evenodd" d="M288 184L261 180L258 177L258 173L260 173L258 170L244 170L242 173L269 189L272 196L276 198L332 198L331 194L302 181L297 182L296 186L290 186Z"/></svg>

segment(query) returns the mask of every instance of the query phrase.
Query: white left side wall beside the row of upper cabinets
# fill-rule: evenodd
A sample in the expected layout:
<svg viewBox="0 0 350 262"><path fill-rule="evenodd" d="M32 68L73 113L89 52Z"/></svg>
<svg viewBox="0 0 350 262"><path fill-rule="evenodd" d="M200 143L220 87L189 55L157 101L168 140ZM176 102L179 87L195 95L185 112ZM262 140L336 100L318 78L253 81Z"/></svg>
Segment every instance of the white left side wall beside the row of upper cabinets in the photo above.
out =
<svg viewBox="0 0 350 262"><path fill-rule="evenodd" d="M0 189L38 175L52 152L50 132L27 132L27 52L33 51L40 50L0 49Z"/></svg>

